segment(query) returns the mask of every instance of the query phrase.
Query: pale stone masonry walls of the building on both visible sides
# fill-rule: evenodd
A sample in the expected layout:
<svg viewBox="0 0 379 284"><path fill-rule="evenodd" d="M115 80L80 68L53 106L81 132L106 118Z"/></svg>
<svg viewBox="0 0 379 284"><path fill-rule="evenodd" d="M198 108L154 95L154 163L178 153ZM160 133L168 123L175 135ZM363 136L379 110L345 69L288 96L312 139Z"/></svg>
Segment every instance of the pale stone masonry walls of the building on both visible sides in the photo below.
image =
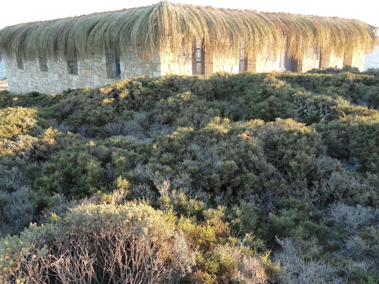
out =
<svg viewBox="0 0 379 284"><path fill-rule="evenodd" d="M356 66L363 69L364 54L333 55L312 51L297 61L297 70L305 72L318 68ZM125 45L119 55L121 79L136 76L158 77L166 74L192 75L192 48L183 47L179 53L170 50L156 51L152 61L138 59L132 44ZM269 72L282 70L282 55L264 55L247 57L247 70ZM37 91L44 94L56 94L67 89L98 87L111 84L116 77L116 53L92 53L86 58L66 58L63 54L56 58L19 59L16 55L5 57L9 91L15 94ZM206 75L225 71L239 72L239 61L217 59L207 53L205 47L204 69Z"/></svg>

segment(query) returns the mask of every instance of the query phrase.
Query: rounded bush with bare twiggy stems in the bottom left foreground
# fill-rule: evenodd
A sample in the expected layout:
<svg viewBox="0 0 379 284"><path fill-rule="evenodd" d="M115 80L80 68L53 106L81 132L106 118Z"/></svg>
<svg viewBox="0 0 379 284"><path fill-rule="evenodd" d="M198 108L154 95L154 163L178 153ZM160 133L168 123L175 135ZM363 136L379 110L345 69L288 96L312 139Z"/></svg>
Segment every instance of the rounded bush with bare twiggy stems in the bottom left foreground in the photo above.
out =
<svg viewBox="0 0 379 284"><path fill-rule="evenodd" d="M191 272L191 252L149 206L86 205L20 237L0 240L2 283L169 283ZM180 245L179 245L179 243Z"/></svg>

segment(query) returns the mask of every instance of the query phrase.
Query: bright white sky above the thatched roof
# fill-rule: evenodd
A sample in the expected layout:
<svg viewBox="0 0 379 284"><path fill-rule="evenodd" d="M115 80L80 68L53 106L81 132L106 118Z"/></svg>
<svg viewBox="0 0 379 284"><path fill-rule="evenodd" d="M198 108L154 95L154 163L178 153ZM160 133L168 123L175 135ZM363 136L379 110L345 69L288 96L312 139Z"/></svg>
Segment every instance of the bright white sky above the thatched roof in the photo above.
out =
<svg viewBox="0 0 379 284"><path fill-rule="evenodd" d="M148 6L158 1L2 0L3 3L0 4L0 29L18 23ZM171 0L171 2L202 6L210 5L219 8L252 9L264 12L338 16L359 19L379 27L379 1L377 0Z"/></svg>

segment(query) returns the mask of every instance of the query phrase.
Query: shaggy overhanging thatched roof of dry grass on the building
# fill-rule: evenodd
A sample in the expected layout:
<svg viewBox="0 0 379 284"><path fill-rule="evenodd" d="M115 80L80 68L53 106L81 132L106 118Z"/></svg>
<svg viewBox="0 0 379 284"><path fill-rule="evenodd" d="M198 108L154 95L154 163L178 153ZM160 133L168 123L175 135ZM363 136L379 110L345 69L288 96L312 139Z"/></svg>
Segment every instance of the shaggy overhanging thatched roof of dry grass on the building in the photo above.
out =
<svg viewBox="0 0 379 284"><path fill-rule="evenodd" d="M337 54L363 50L379 43L376 28L359 20L338 17L266 13L174 4L155 5L23 23L0 30L0 54L44 58L64 52L122 52L131 41L139 57L151 59L152 51L169 47L179 51L200 36L207 52L237 57L241 42L248 55L276 54L283 46L295 59L319 47Z"/></svg>

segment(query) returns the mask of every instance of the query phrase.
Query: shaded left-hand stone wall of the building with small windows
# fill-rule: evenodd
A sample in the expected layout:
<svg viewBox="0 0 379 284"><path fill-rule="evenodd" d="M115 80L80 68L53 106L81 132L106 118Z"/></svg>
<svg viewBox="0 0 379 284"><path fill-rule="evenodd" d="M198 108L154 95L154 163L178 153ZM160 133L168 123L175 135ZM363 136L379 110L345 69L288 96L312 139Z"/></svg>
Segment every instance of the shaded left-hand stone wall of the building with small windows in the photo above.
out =
<svg viewBox="0 0 379 284"><path fill-rule="evenodd" d="M116 77L115 54L92 54L88 58L56 58L43 60L16 59L16 55L5 57L5 68L9 91L15 94L37 91L56 94L67 89L98 87L110 84ZM137 58L132 45L128 44L119 56L121 78L139 75L160 76L159 60L147 62ZM112 61L113 60L113 61ZM154 58L153 58L154 60ZM76 65L75 65L76 62Z"/></svg>

